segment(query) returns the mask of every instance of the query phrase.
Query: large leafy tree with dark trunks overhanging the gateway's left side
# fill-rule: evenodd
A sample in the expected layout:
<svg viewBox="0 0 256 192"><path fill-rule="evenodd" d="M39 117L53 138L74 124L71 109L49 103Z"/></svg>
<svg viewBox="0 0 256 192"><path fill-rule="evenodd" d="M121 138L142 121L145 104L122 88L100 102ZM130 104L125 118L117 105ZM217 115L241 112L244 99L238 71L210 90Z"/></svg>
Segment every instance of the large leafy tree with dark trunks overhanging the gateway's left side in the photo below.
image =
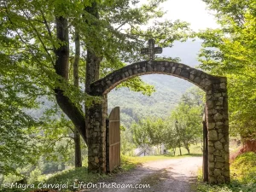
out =
<svg viewBox="0 0 256 192"><path fill-rule="evenodd" d="M2 34L8 38L3 42L1 51L10 61L14 61L22 50L22 57L16 65L31 68L28 77L38 73L38 82L44 82L51 94L55 95L62 111L86 141L84 113L79 106L81 102L90 103L90 98L70 84L72 51L69 41L75 36L74 28L79 30L81 45L86 50L86 73L83 77L85 90L89 90L92 81L106 75L106 72L123 67L122 61L141 58L134 53L148 38L154 37L157 43L169 46L174 40L186 38L188 24L178 20L173 23L156 21L153 27L140 29L148 20L163 15L158 9L159 3L150 1L137 8L137 2L132 2L131 6L130 1L32 0L29 4L3 1ZM159 34L160 30L165 34ZM132 83L125 85L132 87Z"/></svg>

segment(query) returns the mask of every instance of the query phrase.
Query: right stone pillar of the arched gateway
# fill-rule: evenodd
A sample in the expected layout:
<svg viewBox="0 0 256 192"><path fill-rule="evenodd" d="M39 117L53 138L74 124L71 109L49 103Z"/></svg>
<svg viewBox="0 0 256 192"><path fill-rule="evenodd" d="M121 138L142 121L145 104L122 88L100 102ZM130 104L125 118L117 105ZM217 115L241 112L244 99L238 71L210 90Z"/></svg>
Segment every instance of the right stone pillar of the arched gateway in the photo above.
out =
<svg viewBox="0 0 256 192"><path fill-rule="evenodd" d="M212 80L207 90L209 183L230 182L229 117L227 80Z"/></svg>

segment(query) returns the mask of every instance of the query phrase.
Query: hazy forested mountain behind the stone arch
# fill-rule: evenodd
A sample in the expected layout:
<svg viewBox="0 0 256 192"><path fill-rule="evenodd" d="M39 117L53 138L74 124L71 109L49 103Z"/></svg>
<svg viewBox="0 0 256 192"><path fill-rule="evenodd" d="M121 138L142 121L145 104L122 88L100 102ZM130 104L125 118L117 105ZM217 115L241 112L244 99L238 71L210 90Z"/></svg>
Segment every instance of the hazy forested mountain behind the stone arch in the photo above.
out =
<svg viewBox="0 0 256 192"><path fill-rule="evenodd" d="M195 67L197 54L201 49L199 41L175 42L172 48L163 49L162 55L179 57L183 64ZM152 96L131 91L127 88L112 90L108 93L108 113L120 107L121 124L130 127L133 121L146 116L165 118L170 114L183 93L194 84L171 75L150 74L141 77L147 84L154 85Z"/></svg>

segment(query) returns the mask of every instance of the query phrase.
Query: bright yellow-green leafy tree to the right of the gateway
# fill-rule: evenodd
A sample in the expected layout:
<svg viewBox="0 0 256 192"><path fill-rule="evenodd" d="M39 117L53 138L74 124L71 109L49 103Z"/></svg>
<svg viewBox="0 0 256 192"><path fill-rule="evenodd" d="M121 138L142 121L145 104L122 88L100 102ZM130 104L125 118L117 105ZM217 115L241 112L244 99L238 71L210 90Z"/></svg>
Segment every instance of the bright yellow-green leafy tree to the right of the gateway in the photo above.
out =
<svg viewBox="0 0 256 192"><path fill-rule="evenodd" d="M220 28L198 35L204 40L201 68L228 78L230 132L241 135L245 147L255 147L255 2L205 1Z"/></svg>

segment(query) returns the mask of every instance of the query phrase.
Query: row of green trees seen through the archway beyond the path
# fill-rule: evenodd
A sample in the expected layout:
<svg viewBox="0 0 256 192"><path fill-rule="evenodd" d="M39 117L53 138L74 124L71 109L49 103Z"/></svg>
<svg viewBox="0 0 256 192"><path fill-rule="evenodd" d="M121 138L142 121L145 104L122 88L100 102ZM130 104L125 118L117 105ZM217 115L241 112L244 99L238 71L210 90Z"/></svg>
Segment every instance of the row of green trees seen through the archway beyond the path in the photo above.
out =
<svg viewBox="0 0 256 192"><path fill-rule="evenodd" d="M134 143L143 149L165 143L167 148L189 146L201 141L203 92L194 88L181 96L181 101L168 119L148 116L131 125Z"/></svg>

